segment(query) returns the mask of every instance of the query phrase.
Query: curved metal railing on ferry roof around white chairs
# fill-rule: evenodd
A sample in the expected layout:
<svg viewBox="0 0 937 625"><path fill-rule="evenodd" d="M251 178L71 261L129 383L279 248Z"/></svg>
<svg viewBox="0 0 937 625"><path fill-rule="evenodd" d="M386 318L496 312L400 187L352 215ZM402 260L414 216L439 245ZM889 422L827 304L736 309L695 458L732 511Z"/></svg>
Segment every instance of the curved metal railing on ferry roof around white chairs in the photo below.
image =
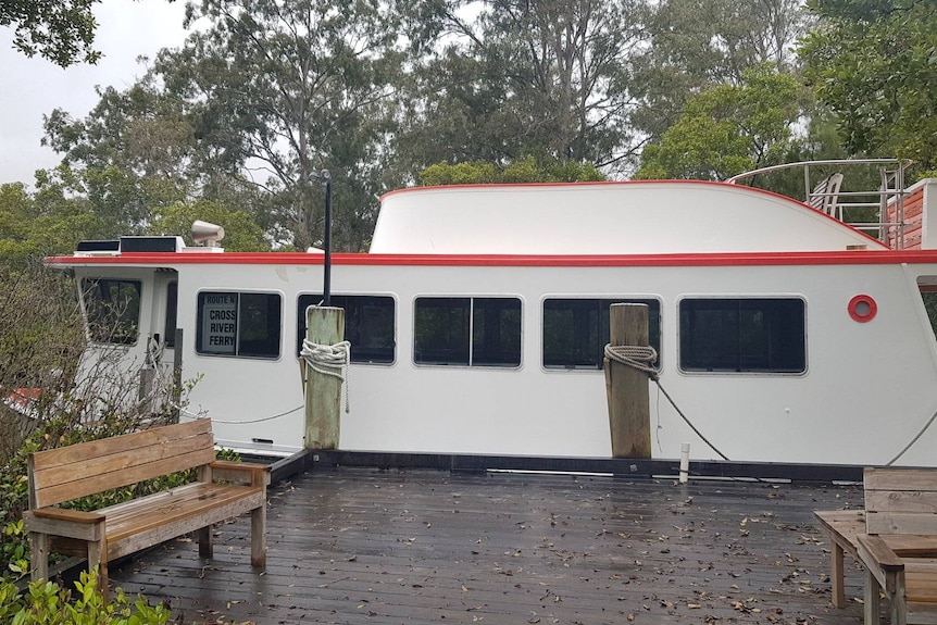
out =
<svg viewBox="0 0 937 625"><path fill-rule="evenodd" d="M905 159L834 159L827 161L800 161L761 167L733 176L725 182L732 185L741 180L753 179L757 176L787 170L803 170L803 202L823 210L829 216L877 238L892 249L904 249L904 230L908 223L904 218L904 198L908 190L904 186L904 172L911 165ZM875 190L841 190L839 182L830 185L830 178L842 174L842 180L849 180L848 168L855 171L859 166L873 166L878 170L879 186ZM835 171L812 184L811 167L814 172ZM841 171L839 171L841 170ZM815 178L819 176L815 176ZM815 179L814 178L814 179ZM861 178L861 177L860 177ZM847 185L849 188L849 185ZM823 207L823 209L821 209ZM877 221L857 221L857 209L876 209ZM866 214L869 211L865 211Z"/></svg>

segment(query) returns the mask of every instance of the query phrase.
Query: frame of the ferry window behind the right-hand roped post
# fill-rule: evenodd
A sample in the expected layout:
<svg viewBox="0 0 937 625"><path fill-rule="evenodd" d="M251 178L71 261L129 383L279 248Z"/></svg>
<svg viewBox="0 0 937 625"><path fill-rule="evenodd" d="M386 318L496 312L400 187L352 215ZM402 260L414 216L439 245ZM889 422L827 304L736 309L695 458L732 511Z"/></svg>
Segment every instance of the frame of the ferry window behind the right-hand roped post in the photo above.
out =
<svg viewBox="0 0 937 625"><path fill-rule="evenodd" d="M595 302L597 304L596 310L600 315L604 315L604 325L602 324L602 318L597 318L598 327L597 333L601 334L603 327L610 330L611 325L611 314L609 312L609 307L614 303L638 303L638 304L647 304L648 305L648 342L651 347L653 347L658 352L658 360L654 363L657 368L661 368L661 363L663 361L663 320L664 320L664 307L663 300L659 296L649 296L649 295L628 295L622 297L609 297L607 295L589 295L589 296L580 296L580 295L548 295L544 296L540 300L540 368L547 373L567 373L567 372L600 372L604 370L604 346L608 345L610 338L607 336L604 342L601 340L601 336L597 335L598 345L598 360L595 364L547 364L547 302L550 301L561 301L561 302ZM604 305L602 303L604 302ZM651 303L657 304L657 311L654 311L654 307ZM653 318L653 313L657 312L657 320ZM657 327L657 333L654 333L654 328ZM610 334L610 333L609 333ZM657 340L654 340L654 336Z"/></svg>

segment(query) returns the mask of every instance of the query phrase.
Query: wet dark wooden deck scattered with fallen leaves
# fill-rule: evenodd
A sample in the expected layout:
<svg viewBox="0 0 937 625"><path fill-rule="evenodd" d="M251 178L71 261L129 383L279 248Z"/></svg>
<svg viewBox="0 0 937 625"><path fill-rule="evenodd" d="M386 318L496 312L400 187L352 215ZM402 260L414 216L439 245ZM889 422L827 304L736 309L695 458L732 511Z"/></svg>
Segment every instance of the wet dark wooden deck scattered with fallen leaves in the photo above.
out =
<svg viewBox="0 0 937 625"><path fill-rule="evenodd" d="M249 518L215 555L172 541L112 567L183 623L861 623L830 604L813 510L854 486L340 468L270 490L267 566Z"/></svg>

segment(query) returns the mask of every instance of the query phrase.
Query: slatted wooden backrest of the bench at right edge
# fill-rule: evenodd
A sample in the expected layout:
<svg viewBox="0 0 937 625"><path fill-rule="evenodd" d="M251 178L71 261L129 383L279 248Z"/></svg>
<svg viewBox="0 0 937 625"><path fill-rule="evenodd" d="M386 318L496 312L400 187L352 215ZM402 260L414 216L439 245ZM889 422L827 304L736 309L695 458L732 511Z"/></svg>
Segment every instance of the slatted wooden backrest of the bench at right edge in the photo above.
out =
<svg viewBox="0 0 937 625"><path fill-rule="evenodd" d="M937 470L866 468L867 534L937 535Z"/></svg>

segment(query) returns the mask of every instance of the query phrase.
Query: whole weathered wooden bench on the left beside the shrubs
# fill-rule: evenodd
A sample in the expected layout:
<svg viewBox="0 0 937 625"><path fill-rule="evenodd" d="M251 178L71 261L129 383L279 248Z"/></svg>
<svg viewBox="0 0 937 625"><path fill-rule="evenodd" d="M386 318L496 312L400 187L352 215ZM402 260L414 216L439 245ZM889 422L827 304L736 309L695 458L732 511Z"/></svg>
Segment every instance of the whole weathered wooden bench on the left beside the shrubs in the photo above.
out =
<svg viewBox="0 0 937 625"><path fill-rule="evenodd" d="M93 512L57 504L189 468L197 480ZM32 453L28 461L33 579L48 576L49 553L82 555L98 567L108 592L108 562L197 533L199 554L212 555L211 526L251 513L251 564L266 564L270 467L215 461L210 420ZM223 482L222 482L223 480Z"/></svg>

